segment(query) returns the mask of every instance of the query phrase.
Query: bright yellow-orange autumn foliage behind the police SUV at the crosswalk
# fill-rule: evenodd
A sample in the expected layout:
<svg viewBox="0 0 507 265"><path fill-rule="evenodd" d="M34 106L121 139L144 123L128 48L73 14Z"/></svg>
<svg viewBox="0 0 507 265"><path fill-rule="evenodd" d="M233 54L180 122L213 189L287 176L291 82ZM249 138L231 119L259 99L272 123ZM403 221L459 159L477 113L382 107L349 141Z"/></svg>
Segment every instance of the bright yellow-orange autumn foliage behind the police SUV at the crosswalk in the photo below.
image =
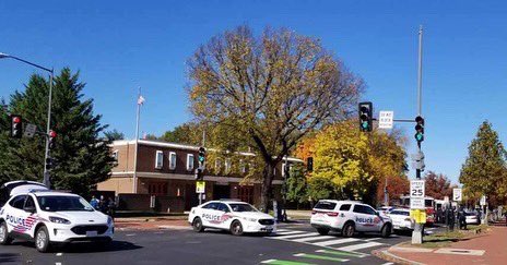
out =
<svg viewBox="0 0 507 265"><path fill-rule="evenodd" d="M402 140L398 132L362 133L356 121L329 125L314 140L306 138L302 142L306 146L298 146L296 150L313 150L309 196L313 201L334 197L381 202L386 179L389 194L406 193L409 181L404 174ZM304 156L306 153L297 154Z"/></svg>

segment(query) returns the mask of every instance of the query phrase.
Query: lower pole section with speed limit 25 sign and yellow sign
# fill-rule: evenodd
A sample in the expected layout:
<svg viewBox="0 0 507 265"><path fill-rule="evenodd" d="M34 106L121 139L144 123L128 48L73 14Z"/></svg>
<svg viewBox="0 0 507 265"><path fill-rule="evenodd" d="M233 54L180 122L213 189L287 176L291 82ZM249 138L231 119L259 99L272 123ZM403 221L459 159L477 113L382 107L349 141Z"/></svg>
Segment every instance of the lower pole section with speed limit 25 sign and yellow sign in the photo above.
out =
<svg viewBox="0 0 507 265"><path fill-rule="evenodd" d="M410 181L410 216L415 221L414 231L412 231L412 244L423 243L422 226L426 222L426 206L424 203L425 181Z"/></svg>

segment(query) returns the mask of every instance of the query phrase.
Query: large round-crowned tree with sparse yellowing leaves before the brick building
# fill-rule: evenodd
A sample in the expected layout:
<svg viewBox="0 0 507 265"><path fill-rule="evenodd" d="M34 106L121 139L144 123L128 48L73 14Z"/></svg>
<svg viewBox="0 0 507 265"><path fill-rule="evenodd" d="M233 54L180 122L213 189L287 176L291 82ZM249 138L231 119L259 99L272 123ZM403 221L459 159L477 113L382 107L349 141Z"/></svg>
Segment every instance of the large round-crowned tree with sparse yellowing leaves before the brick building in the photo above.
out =
<svg viewBox="0 0 507 265"><path fill-rule="evenodd" d="M319 40L287 29L255 36L237 27L202 45L188 65L197 119L226 127L262 158L263 210L275 166L309 131L353 112L364 87Z"/></svg>

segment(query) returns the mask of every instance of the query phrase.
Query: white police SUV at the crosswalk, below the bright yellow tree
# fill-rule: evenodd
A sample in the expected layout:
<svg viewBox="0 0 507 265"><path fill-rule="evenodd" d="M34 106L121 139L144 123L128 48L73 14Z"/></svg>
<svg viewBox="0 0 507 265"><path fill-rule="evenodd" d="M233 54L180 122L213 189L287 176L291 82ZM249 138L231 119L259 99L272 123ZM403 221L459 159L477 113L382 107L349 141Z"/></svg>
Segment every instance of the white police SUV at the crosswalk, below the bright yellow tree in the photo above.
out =
<svg viewBox="0 0 507 265"><path fill-rule="evenodd" d="M367 204L353 201L319 201L311 212L310 224L320 234L333 230L346 238L355 232L379 232L387 238L392 231L389 217L380 215Z"/></svg>

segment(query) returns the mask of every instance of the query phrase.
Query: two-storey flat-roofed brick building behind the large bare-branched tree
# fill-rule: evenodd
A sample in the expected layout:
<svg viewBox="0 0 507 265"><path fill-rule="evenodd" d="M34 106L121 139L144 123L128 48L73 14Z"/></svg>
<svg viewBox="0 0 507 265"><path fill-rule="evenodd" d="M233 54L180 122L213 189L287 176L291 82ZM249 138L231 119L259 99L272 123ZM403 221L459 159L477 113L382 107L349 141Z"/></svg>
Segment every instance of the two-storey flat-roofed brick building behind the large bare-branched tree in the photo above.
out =
<svg viewBox="0 0 507 265"><path fill-rule="evenodd" d="M196 194L194 168L198 167L199 146L158 141L138 141L138 162L134 172L135 141L115 141L113 155L118 164L113 169L111 178L98 183L99 191L114 191L118 194L149 194L182 198L185 208L198 204ZM239 156L255 156L252 153L239 153ZM288 164L303 162L288 158ZM232 167L231 160L224 159L225 167ZM283 181L284 162L275 169L273 190L280 197ZM209 167L209 166L208 166ZM207 167L207 168L208 168ZM137 184L134 184L135 174ZM211 174L204 171L205 200L238 198L251 204L259 204L261 197L260 182L240 183L241 176L232 173Z"/></svg>

